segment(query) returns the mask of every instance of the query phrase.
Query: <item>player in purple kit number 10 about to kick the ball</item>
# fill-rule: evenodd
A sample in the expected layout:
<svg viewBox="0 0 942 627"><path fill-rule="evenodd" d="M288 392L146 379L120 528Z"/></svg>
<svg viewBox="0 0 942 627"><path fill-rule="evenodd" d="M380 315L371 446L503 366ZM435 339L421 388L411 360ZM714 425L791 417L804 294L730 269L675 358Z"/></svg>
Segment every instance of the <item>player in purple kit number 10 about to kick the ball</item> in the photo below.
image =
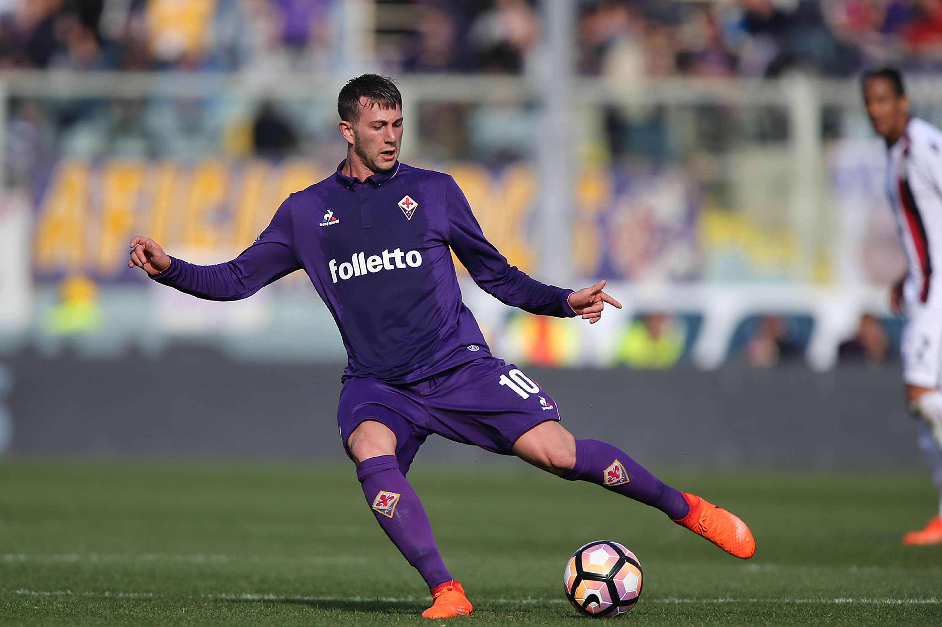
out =
<svg viewBox="0 0 942 627"><path fill-rule="evenodd" d="M560 426L552 396L491 355L462 302L451 253L482 289L532 314L596 322L606 303L621 307L602 291L605 281L574 292L531 279L484 238L450 176L400 163L402 98L391 80L351 79L337 110L347 159L288 197L235 260L191 265L138 236L128 264L215 300L307 272L349 355L337 408L342 442L382 530L430 588L433 604L422 616L472 610L406 479L432 433L604 486L658 507L732 555L752 556L755 541L739 518L665 485L615 446L577 440Z"/></svg>

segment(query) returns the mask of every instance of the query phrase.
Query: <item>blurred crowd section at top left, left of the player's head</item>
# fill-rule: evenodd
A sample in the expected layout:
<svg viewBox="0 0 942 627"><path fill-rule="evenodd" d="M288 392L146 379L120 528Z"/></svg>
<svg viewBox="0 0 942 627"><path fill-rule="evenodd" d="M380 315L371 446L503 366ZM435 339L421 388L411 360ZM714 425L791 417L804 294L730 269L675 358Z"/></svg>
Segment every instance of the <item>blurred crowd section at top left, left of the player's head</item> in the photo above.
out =
<svg viewBox="0 0 942 627"><path fill-rule="evenodd" d="M317 71L334 0L0 0L0 68Z"/></svg>

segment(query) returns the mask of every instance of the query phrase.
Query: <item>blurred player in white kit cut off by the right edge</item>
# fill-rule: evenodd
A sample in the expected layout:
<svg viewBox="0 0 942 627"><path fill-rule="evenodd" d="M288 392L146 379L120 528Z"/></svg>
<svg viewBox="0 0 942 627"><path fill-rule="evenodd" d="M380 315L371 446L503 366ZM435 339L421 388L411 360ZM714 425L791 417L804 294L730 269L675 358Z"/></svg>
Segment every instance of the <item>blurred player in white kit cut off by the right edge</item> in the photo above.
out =
<svg viewBox="0 0 942 627"><path fill-rule="evenodd" d="M873 130L886 141L886 192L896 214L908 270L893 286L890 304L906 315L902 378L918 416L919 449L939 491L939 513L903 544L942 543L942 131L909 115L900 72L864 74L864 102Z"/></svg>

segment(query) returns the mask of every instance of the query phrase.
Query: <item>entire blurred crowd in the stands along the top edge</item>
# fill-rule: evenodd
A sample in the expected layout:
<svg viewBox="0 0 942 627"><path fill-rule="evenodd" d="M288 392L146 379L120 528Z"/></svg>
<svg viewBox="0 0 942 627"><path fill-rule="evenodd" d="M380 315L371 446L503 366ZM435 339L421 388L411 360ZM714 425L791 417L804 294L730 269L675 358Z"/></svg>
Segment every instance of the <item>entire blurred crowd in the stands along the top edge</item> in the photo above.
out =
<svg viewBox="0 0 942 627"><path fill-rule="evenodd" d="M578 69L614 79L795 68L844 76L876 62L913 71L942 60L942 0L577 3ZM345 4L0 0L0 68L323 71L339 54ZM526 72L541 40L528 0L377 0L374 14L386 72Z"/></svg>

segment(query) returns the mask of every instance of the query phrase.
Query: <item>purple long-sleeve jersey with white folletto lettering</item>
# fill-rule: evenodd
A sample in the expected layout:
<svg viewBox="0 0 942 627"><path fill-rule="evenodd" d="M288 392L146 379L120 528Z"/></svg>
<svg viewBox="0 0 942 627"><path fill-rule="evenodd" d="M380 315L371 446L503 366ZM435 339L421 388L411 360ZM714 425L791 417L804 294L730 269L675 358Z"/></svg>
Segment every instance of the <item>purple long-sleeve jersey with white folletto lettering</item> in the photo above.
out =
<svg viewBox="0 0 942 627"><path fill-rule="evenodd" d="M236 300L303 269L333 314L344 378L410 383L489 355L464 306L451 250L476 283L532 314L569 317L571 290L530 278L487 241L447 174L397 163L364 182L342 173L292 194L233 261L172 258L151 276L195 297Z"/></svg>

